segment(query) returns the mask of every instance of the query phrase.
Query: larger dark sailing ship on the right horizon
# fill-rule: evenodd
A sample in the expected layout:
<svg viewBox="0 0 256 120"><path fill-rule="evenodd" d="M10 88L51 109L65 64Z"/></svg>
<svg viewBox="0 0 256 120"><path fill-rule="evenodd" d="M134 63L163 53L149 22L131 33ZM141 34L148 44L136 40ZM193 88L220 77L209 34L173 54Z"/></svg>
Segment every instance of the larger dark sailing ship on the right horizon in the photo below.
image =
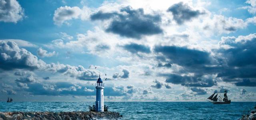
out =
<svg viewBox="0 0 256 120"><path fill-rule="evenodd" d="M207 100L209 102L212 102L213 104L230 104L231 100L228 100L227 90L225 90L224 92L225 93L223 99L220 93L214 93L209 98L207 98Z"/></svg>

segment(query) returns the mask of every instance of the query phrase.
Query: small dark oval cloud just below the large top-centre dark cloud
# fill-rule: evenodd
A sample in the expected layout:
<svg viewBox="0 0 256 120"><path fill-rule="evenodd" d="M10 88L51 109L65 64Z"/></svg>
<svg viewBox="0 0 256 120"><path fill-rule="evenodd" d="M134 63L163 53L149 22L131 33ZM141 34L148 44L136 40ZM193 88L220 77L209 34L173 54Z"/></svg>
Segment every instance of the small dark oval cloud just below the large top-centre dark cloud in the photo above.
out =
<svg viewBox="0 0 256 120"><path fill-rule="evenodd" d="M130 43L122 46L122 48L124 48L124 50L127 50L133 54L136 54L138 52L150 53L150 47L144 46L142 44Z"/></svg>

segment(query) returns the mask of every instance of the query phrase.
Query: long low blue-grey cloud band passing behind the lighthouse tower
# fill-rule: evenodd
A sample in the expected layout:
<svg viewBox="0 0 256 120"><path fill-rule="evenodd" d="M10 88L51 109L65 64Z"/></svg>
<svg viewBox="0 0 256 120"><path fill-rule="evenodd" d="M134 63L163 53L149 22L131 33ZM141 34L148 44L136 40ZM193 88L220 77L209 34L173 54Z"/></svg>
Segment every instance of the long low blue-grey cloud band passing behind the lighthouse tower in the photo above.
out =
<svg viewBox="0 0 256 120"><path fill-rule="evenodd" d="M135 89L135 90L130 90ZM123 87L112 88L105 86L104 96L125 96L126 92L136 91L136 88L124 89ZM72 84L70 82L31 83L28 89L24 89L32 95L47 96L95 96L95 86L83 84Z"/></svg>

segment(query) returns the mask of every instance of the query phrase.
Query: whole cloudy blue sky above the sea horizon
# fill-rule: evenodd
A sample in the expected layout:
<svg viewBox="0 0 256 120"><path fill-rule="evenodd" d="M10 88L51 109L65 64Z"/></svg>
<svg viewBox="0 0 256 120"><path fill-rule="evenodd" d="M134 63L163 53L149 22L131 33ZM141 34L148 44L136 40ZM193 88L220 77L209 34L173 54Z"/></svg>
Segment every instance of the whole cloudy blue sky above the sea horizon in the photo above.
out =
<svg viewBox="0 0 256 120"><path fill-rule="evenodd" d="M256 101L256 0L0 0L0 101Z"/></svg>

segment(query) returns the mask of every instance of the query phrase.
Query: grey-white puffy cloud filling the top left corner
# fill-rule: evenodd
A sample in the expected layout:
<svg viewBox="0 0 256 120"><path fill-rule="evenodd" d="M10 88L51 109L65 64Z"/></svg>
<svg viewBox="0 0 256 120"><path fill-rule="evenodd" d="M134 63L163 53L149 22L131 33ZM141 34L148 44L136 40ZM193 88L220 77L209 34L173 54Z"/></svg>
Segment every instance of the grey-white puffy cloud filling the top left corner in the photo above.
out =
<svg viewBox="0 0 256 120"><path fill-rule="evenodd" d="M0 0L0 21L17 23L24 17L24 9L16 0Z"/></svg>

